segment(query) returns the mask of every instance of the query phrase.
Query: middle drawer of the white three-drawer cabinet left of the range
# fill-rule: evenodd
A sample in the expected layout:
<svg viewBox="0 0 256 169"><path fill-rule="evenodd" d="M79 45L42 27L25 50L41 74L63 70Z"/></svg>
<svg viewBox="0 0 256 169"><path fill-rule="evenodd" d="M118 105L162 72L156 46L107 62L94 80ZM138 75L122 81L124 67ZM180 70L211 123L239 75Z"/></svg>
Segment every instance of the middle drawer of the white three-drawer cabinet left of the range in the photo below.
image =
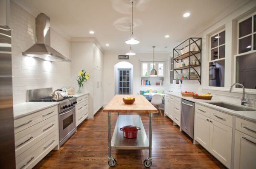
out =
<svg viewBox="0 0 256 169"><path fill-rule="evenodd" d="M16 157L55 130L58 130L58 115L15 134Z"/></svg>

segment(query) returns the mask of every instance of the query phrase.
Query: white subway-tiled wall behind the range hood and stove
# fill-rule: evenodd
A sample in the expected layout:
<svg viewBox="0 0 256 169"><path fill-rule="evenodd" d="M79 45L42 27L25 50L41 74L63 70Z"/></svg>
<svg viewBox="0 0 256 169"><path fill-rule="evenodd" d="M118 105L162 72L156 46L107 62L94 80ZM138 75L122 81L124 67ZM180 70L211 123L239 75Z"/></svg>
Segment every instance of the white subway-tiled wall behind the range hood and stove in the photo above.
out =
<svg viewBox="0 0 256 169"><path fill-rule="evenodd" d="M14 104L26 101L27 89L69 86L70 62L48 62L22 55L35 44L35 17L15 3L11 3L10 11ZM51 29L51 46L67 58L70 58L69 40Z"/></svg>

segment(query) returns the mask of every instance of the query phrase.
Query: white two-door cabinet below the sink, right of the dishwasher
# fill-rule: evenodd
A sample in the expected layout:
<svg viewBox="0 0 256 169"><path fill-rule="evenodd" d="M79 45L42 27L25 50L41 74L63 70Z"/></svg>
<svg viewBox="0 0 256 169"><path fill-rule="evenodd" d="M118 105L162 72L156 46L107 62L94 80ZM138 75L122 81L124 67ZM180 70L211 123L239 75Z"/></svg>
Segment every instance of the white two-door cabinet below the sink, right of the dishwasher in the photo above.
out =
<svg viewBox="0 0 256 169"><path fill-rule="evenodd" d="M218 117L225 118L220 121L221 118ZM218 121L213 118L218 118ZM208 107L204 109L204 112L197 109L195 112L195 140L227 168L231 167L232 122L231 115Z"/></svg>

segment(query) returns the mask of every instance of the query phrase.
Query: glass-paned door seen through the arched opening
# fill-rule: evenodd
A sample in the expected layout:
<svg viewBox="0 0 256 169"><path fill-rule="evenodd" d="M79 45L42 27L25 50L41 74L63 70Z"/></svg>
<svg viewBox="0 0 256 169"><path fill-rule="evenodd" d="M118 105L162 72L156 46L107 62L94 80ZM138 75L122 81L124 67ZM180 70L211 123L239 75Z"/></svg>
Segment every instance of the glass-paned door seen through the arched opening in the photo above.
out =
<svg viewBox="0 0 256 169"><path fill-rule="evenodd" d="M118 94L131 94L131 69L118 69Z"/></svg>

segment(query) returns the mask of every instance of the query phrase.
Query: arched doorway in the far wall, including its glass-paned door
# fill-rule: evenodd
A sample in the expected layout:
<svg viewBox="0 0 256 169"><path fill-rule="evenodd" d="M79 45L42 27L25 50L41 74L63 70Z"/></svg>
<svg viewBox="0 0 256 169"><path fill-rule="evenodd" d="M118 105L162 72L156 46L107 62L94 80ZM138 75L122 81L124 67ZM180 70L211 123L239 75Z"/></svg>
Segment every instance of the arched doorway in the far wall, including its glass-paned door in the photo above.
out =
<svg viewBox="0 0 256 169"><path fill-rule="evenodd" d="M129 62L118 62L114 65L115 94L133 93L133 65Z"/></svg>

